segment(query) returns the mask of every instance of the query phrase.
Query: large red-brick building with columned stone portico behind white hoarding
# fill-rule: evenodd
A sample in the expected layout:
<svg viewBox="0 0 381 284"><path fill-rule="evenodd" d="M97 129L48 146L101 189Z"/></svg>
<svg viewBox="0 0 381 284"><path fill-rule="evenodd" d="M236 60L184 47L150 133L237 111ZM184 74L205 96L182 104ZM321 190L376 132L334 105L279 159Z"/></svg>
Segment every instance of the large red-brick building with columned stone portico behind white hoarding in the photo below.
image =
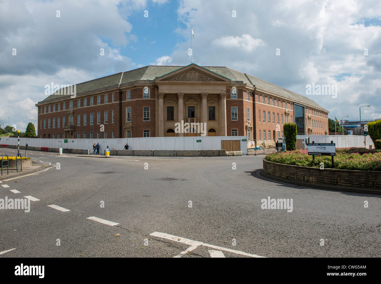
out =
<svg viewBox="0 0 381 284"><path fill-rule="evenodd" d="M120 72L77 84L75 97L56 92L36 106L40 138L201 135L177 133L181 121L206 123L208 136L248 140L276 140L287 122L301 135L328 134L328 111L313 100L227 67L196 64Z"/></svg>

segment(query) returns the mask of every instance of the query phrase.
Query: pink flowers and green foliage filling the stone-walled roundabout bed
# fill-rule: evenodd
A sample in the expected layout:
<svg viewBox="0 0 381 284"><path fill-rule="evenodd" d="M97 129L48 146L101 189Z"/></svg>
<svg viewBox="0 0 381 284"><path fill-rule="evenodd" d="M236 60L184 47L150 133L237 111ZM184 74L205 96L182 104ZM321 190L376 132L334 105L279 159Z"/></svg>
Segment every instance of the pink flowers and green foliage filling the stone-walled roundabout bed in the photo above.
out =
<svg viewBox="0 0 381 284"><path fill-rule="evenodd" d="M312 163L312 156L308 155L307 149L274 153L266 155L265 159L275 163L317 168L321 166L320 163L324 163L324 168L332 168L331 156L315 156ZM381 171L381 152L366 148L337 148L333 165L335 169Z"/></svg>

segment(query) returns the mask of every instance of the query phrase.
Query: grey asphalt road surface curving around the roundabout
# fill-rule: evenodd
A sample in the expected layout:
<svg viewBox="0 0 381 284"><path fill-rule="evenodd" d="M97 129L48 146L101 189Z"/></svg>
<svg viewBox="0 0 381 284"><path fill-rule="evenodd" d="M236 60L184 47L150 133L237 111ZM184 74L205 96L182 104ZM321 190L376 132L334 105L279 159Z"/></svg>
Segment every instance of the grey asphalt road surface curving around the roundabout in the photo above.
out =
<svg viewBox="0 0 381 284"><path fill-rule="evenodd" d="M381 256L381 196L266 179L264 156L29 156L53 166L0 183L0 198L39 199L0 209L0 257ZM268 196L292 212L262 209Z"/></svg>

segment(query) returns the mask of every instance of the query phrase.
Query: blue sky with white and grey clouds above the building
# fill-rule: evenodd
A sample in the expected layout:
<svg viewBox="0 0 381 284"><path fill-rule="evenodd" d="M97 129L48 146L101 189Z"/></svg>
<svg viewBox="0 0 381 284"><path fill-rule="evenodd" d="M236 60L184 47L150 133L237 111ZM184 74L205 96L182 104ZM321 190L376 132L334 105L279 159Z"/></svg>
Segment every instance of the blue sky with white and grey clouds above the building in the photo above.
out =
<svg viewBox="0 0 381 284"><path fill-rule="evenodd" d="M309 96L330 118L357 119L361 105L362 118L381 118L379 0L0 0L0 118L37 126L51 82L190 64L191 26L196 64L303 95L336 85L337 97Z"/></svg>

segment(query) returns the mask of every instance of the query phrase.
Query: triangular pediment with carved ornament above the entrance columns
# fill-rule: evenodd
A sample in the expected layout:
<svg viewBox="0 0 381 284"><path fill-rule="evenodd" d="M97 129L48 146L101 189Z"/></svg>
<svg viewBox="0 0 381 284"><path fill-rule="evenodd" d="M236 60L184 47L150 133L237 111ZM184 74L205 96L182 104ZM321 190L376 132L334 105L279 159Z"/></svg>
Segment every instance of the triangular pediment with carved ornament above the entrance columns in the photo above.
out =
<svg viewBox="0 0 381 284"><path fill-rule="evenodd" d="M166 75L158 77L155 82L176 82L176 81L201 81L201 82L230 82L230 79L215 72L211 72L196 64L190 64Z"/></svg>

